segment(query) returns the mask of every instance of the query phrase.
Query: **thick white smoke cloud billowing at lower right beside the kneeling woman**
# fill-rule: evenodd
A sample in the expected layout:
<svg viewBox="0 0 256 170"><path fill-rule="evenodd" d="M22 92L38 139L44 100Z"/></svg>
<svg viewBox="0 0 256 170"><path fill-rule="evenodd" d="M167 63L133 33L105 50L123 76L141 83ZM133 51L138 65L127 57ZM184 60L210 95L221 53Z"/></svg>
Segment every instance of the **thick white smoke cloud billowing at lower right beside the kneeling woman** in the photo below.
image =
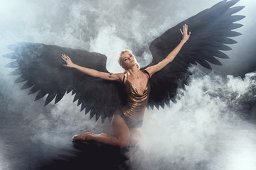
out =
<svg viewBox="0 0 256 170"><path fill-rule="evenodd" d="M134 169L254 169L256 129L242 119L240 105L255 103L255 78L256 72L245 79L194 72L181 100L148 112L129 163Z"/></svg>

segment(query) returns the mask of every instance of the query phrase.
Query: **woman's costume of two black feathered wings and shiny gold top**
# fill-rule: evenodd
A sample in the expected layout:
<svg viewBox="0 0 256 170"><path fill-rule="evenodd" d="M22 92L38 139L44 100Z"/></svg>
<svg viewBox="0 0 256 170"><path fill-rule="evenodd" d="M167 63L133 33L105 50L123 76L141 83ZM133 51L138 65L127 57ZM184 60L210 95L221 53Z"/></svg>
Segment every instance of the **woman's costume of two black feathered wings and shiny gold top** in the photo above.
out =
<svg viewBox="0 0 256 170"><path fill-rule="evenodd" d="M31 88L29 94L39 91L35 100L47 96L45 105L54 98L55 103L58 103L65 93L72 91L72 94L75 94L74 101L78 101L78 106L81 106L81 111L85 110L85 114L90 112L90 118L101 118L103 123L106 118L112 120L114 114L123 113L127 123L132 119L132 123L128 123L129 127L140 127L145 106L158 109L159 106L169 106L170 101L176 101L177 89L186 84L190 74L188 67L191 67L191 64L201 64L211 69L208 62L221 64L215 57L228 58L223 51L231 50L228 44L237 43L231 38L241 35L233 31L242 26L235 22L245 17L233 15L244 8L231 8L238 1L220 1L211 8L178 23L153 40L149 44L153 60L146 67L158 64L174 50L181 40L179 28L184 24L189 26L189 31L193 34L171 63L152 77L147 76L150 81L148 80L142 96L137 94L136 89L129 83L129 77L126 77L127 81L124 84L129 98L125 99L123 86L119 82L90 77L78 70L63 67L64 63L60 58L61 54L66 54L82 67L108 72L107 57L96 52L19 42L16 45L9 45L14 52L4 57L15 61L6 67L17 68L12 74L21 75L15 83L26 81L21 89Z"/></svg>

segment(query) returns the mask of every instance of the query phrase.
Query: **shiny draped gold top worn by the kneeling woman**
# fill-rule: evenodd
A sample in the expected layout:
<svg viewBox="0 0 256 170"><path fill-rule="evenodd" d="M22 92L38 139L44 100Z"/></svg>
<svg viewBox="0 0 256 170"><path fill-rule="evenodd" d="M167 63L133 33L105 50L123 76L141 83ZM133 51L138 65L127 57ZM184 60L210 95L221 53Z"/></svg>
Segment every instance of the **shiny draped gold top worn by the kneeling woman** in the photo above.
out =
<svg viewBox="0 0 256 170"><path fill-rule="evenodd" d="M144 74L148 74L147 72L145 72L146 71L144 71ZM127 103L122 108L122 113L125 115L125 117L129 118L130 120L143 120L144 111L146 109L146 103L149 99L149 79L146 83L146 87L143 91L143 94L139 94L137 89L135 89L134 86L132 86L127 76L126 84L124 84L124 90L127 94Z"/></svg>

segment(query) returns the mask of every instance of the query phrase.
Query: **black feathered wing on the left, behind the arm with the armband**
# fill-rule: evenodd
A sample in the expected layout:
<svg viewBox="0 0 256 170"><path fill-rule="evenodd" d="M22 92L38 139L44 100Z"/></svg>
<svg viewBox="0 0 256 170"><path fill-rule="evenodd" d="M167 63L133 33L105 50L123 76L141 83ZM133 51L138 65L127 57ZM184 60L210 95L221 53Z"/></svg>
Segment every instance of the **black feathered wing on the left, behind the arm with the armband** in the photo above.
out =
<svg viewBox="0 0 256 170"><path fill-rule="evenodd" d="M119 82L90 77L78 70L63 67L65 63L60 57L66 54L76 64L107 72L105 55L29 42L9 45L9 48L14 52L4 57L16 61L6 67L17 68L11 74L21 75L15 83L26 81L21 89L32 87L28 94L39 91L35 100L47 95L45 105L54 98L58 103L66 92L72 91L74 101L78 100L78 106L81 105L81 111L86 108L85 114L90 111L90 118L95 115L96 120L101 116L102 123L107 117L111 120L115 111L122 108L122 86Z"/></svg>

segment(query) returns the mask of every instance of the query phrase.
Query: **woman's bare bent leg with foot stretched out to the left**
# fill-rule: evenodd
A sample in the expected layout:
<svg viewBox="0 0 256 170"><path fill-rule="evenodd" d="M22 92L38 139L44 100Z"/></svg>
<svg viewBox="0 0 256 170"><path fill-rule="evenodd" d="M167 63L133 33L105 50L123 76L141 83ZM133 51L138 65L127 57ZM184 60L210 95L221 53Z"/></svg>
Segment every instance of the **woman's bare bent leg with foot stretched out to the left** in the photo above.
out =
<svg viewBox="0 0 256 170"><path fill-rule="evenodd" d="M113 145L117 147L127 147L130 141L129 128L124 123L124 119L120 115L114 115L112 122L112 128L114 135L108 135L107 133L101 133L100 135L87 132L82 135L75 135L72 140L88 141L92 140L107 145Z"/></svg>

